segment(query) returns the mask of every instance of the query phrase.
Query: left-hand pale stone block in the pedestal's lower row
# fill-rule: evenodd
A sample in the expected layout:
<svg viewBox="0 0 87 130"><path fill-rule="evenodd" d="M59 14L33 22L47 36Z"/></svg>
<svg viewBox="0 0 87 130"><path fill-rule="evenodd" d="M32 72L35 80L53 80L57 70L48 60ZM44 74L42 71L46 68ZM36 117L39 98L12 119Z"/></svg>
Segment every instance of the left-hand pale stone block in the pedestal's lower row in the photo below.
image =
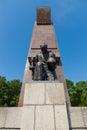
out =
<svg viewBox="0 0 87 130"><path fill-rule="evenodd" d="M21 130L34 130L34 106L24 106Z"/></svg>

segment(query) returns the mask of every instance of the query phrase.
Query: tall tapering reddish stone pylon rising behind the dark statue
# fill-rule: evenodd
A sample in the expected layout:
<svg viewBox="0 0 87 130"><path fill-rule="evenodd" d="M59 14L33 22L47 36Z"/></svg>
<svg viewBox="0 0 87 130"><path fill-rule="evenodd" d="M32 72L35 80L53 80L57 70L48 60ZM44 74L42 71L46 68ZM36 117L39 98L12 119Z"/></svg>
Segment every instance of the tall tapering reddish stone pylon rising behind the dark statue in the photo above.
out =
<svg viewBox="0 0 87 130"><path fill-rule="evenodd" d="M49 7L40 7L37 8L37 18L34 24L29 53L26 61L24 80L19 99L19 106L23 106L25 84L32 81L32 74L31 71L29 70L29 60L31 57L35 57L36 54L40 52L40 45L43 44L44 42L48 44L48 49L52 50L56 55L57 59L56 74L58 77L58 81L64 84L66 103L70 105L66 81L64 78L64 72L61 63L60 52L58 48L58 42L56 39L53 23L51 21L51 9Z"/></svg>

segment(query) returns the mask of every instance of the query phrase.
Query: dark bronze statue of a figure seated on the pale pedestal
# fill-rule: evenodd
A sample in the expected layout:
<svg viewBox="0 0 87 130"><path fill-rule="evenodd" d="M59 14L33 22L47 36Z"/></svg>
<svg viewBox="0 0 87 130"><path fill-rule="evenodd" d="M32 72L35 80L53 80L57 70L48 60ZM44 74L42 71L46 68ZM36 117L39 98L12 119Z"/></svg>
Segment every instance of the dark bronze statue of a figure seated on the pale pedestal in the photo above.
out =
<svg viewBox="0 0 87 130"><path fill-rule="evenodd" d="M57 80L55 54L52 51L48 51L48 46L45 43L40 45L40 49L41 52L30 59L29 69L32 71L32 80Z"/></svg>

